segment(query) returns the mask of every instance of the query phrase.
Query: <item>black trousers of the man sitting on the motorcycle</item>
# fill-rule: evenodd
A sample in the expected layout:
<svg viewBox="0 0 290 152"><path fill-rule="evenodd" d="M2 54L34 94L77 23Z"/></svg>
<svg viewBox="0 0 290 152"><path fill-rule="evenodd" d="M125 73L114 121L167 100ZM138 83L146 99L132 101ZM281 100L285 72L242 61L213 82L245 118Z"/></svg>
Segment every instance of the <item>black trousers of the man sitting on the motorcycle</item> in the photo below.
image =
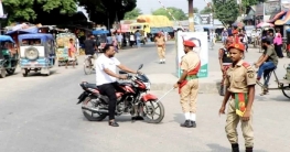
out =
<svg viewBox="0 0 290 152"><path fill-rule="evenodd" d="M105 95L109 98L109 120L115 119L117 96L116 90L119 89L118 83L104 84L98 86L101 95Z"/></svg>

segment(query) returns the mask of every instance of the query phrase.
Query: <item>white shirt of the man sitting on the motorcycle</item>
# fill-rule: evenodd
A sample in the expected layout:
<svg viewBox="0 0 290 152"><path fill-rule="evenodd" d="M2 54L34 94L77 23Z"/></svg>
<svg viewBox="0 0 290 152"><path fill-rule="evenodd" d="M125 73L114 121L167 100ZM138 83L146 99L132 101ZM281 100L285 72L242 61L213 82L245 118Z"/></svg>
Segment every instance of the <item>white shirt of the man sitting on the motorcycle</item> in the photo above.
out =
<svg viewBox="0 0 290 152"><path fill-rule="evenodd" d="M96 85L100 86L104 84L110 84L117 82L116 77L109 76L104 72L105 68L110 69L112 73L116 73L117 65L120 65L120 62L116 57L107 57L105 54L101 54L96 59Z"/></svg>

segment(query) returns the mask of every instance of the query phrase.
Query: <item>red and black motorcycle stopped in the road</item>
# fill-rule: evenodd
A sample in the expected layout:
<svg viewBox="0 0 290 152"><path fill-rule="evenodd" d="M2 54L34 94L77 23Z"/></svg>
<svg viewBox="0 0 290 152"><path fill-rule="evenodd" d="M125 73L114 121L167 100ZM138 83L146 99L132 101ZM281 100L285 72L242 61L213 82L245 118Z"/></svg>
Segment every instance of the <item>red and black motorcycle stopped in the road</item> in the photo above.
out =
<svg viewBox="0 0 290 152"><path fill-rule="evenodd" d="M142 68L142 64L138 70ZM120 70L119 74L126 74L130 82L119 83L116 90L117 105L116 116L130 113L132 118L139 117L149 123L159 123L164 118L164 107L150 90L150 80L144 74L135 76ZM101 121L108 116L109 98L100 94L95 84L83 82L79 84L84 93L78 97L78 104L82 104L83 115L89 121ZM158 110L159 109L159 110ZM154 117L157 118L154 119Z"/></svg>

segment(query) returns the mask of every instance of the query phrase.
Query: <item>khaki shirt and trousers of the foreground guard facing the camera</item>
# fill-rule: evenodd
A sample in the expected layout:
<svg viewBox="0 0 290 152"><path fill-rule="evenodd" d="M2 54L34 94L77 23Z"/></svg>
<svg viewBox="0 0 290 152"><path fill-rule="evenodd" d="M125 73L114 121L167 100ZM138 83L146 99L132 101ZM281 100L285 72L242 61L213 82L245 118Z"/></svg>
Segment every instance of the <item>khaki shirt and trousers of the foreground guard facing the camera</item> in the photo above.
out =
<svg viewBox="0 0 290 152"><path fill-rule="evenodd" d="M229 93L248 93L248 86L256 84L255 69L249 65L245 64L244 61L239 61L235 67L229 66L226 73L225 85ZM235 99L228 102L227 119L226 119L226 133L228 141L238 143L237 124L240 117L236 113ZM253 130L253 111L248 121L241 122L241 131L245 139L246 148L254 146L254 130Z"/></svg>

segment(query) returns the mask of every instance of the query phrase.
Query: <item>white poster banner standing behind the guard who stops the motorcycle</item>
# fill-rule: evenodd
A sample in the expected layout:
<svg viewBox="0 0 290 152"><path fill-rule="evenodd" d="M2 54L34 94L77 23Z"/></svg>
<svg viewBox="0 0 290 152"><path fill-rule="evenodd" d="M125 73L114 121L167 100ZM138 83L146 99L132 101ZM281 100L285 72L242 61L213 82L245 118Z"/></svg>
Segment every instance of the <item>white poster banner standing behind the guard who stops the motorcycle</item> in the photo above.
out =
<svg viewBox="0 0 290 152"><path fill-rule="evenodd" d="M198 78L205 78L208 76L208 42L206 32L178 32L176 36L176 75L180 78L182 75L181 70L181 58L185 55L183 41L192 41L196 47L193 48L201 58L202 66L197 74Z"/></svg>

